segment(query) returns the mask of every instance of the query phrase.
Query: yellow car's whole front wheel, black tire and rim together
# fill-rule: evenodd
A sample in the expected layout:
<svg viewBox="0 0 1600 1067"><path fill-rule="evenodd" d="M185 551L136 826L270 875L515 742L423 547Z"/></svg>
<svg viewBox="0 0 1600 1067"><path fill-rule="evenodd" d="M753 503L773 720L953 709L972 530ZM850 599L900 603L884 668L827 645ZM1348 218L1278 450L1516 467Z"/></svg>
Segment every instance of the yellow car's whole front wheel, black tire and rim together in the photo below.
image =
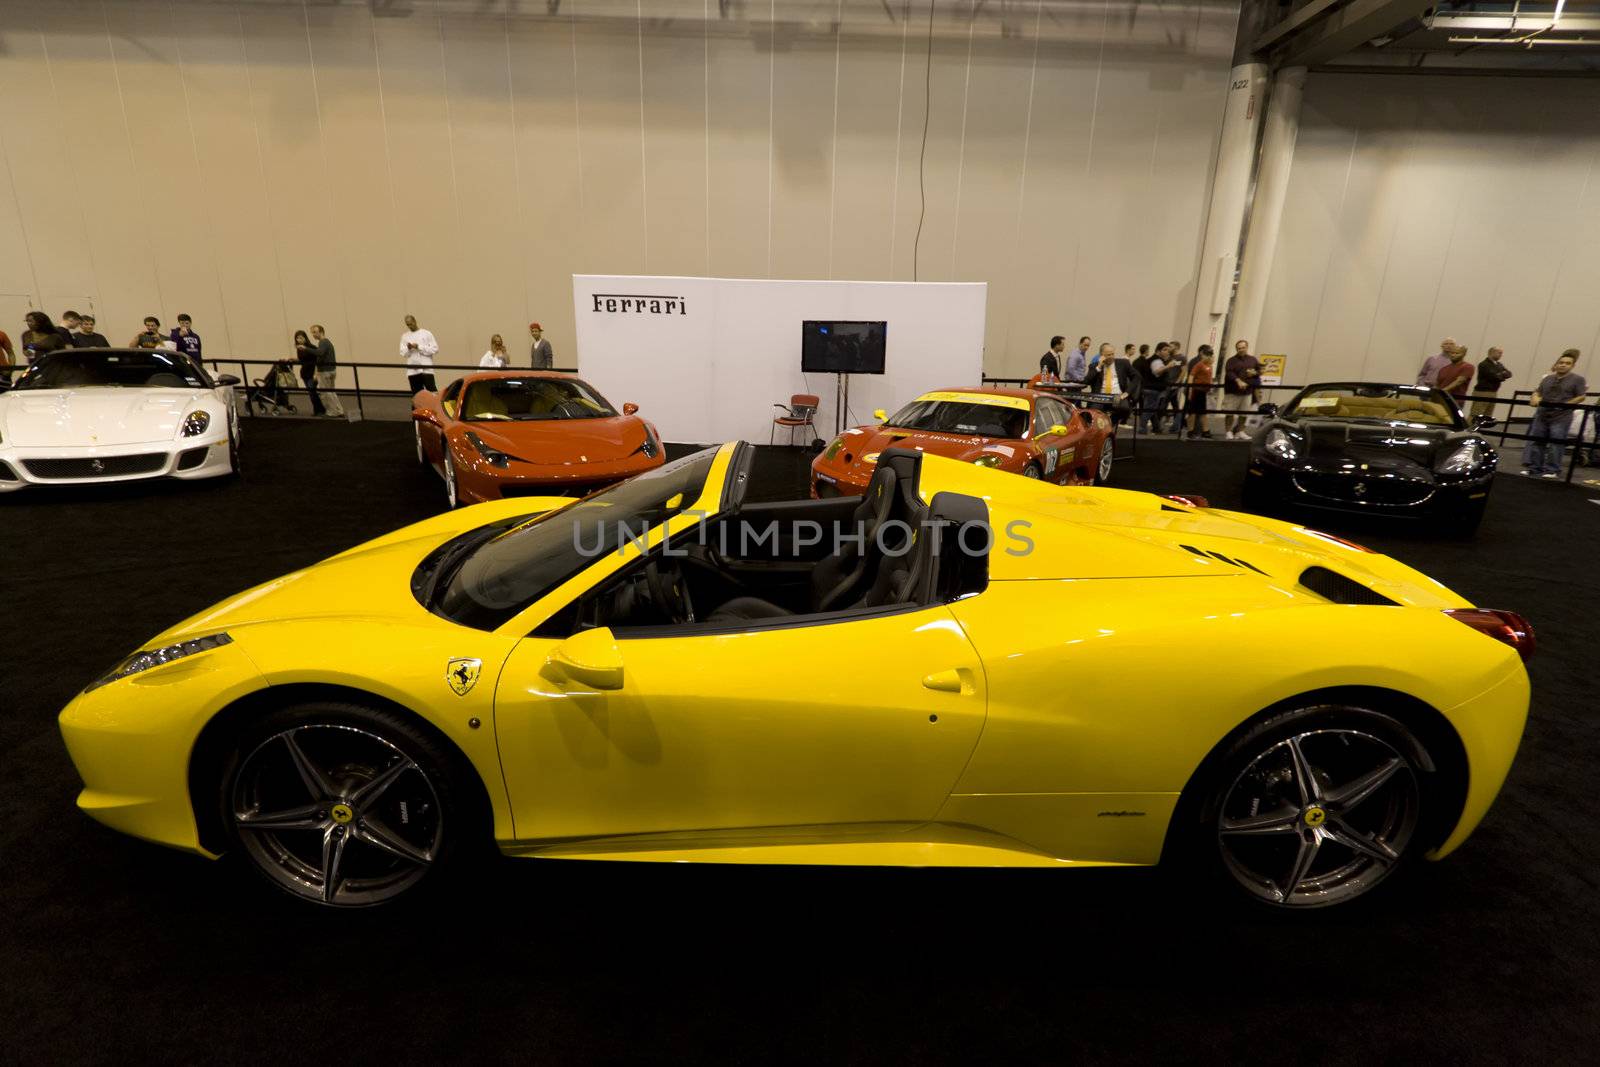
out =
<svg viewBox="0 0 1600 1067"><path fill-rule="evenodd" d="M416 897L486 840L462 763L395 712L333 701L270 712L235 734L218 777L229 853L307 904Z"/></svg>

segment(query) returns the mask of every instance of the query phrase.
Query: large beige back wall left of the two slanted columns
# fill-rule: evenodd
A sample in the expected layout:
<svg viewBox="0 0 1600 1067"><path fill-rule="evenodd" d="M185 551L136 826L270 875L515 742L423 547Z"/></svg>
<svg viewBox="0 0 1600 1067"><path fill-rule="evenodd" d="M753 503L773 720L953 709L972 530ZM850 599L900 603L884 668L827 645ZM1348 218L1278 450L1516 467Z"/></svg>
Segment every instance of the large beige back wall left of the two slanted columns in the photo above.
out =
<svg viewBox="0 0 1600 1067"><path fill-rule="evenodd" d="M0 0L0 309L386 362L406 312L474 360L538 318L571 363L573 274L910 280L920 222L917 275L986 282L986 370L1024 374L1187 320L1235 16Z"/></svg>

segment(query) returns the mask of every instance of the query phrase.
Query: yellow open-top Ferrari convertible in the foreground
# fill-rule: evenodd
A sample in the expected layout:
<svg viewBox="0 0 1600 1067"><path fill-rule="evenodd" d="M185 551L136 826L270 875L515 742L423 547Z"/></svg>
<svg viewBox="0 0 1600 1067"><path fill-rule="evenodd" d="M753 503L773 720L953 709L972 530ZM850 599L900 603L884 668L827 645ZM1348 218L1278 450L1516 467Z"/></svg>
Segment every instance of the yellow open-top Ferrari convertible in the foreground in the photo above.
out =
<svg viewBox="0 0 1600 1067"><path fill-rule="evenodd" d="M1280 907L1440 857L1533 635L1290 523L885 451L506 499L258 585L61 713L78 805L330 905L534 857L1173 862Z"/></svg>

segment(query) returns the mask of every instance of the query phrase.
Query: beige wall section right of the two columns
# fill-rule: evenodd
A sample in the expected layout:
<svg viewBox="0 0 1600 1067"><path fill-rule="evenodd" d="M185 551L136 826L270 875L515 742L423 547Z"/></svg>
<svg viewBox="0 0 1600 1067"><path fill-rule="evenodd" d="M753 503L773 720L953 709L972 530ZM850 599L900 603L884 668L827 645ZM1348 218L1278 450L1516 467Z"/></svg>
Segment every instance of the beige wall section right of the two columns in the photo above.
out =
<svg viewBox="0 0 1600 1067"><path fill-rule="evenodd" d="M1597 160L1586 80L1312 75L1256 350L1290 381L1410 381L1453 336L1518 386L1592 354Z"/></svg>

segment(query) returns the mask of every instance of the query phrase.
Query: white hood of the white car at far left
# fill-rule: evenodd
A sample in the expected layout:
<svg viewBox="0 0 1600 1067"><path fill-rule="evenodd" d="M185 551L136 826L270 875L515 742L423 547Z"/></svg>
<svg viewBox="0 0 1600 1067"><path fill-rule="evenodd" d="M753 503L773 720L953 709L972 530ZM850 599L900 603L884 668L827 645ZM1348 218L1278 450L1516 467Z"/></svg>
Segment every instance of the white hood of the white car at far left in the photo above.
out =
<svg viewBox="0 0 1600 1067"><path fill-rule="evenodd" d="M0 397L0 435L34 448L165 443L206 400L203 389L22 389Z"/></svg>

